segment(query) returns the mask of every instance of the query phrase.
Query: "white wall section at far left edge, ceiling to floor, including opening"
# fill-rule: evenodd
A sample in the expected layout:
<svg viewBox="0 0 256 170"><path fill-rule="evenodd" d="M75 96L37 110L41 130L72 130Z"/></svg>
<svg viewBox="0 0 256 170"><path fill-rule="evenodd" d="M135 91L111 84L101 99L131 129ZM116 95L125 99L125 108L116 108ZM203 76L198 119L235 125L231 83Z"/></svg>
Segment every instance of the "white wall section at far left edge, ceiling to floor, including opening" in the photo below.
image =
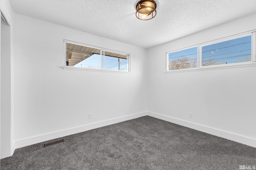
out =
<svg viewBox="0 0 256 170"><path fill-rule="evenodd" d="M13 142L13 11L9 0L0 1L0 11L7 23L1 21L1 152L0 158L10 156L14 152Z"/></svg>

